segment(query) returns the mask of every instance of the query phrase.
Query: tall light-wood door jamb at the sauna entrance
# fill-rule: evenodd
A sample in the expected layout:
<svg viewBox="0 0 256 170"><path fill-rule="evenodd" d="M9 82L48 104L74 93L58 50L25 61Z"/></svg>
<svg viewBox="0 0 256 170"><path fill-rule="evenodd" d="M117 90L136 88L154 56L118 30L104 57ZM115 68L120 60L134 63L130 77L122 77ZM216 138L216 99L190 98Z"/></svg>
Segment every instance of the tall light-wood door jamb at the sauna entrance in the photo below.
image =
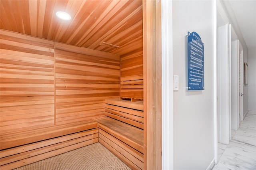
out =
<svg viewBox="0 0 256 170"><path fill-rule="evenodd" d="M161 0L143 0L144 170L162 169Z"/></svg>

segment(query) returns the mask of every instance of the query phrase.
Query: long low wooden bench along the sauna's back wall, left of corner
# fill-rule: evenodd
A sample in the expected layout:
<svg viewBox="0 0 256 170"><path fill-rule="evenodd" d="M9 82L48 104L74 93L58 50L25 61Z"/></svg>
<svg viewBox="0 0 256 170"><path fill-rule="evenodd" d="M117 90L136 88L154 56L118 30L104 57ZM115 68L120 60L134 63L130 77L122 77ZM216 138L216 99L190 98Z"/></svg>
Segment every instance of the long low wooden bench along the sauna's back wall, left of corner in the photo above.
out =
<svg viewBox="0 0 256 170"><path fill-rule="evenodd" d="M0 169L10 170L98 142L98 123L92 119L65 125L2 132Z"/></svg>

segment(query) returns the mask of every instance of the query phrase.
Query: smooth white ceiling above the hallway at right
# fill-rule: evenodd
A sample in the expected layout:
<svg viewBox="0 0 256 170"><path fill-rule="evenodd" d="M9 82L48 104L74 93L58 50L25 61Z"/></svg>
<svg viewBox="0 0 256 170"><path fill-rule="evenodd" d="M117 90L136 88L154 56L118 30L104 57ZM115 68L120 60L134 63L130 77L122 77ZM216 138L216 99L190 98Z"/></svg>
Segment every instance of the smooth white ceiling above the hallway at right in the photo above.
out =
<svg viewBox="0 0 256 170"><path fill-rule="evenodd" d="M256 0L230 0L248 48L256 48Z"/></svg>

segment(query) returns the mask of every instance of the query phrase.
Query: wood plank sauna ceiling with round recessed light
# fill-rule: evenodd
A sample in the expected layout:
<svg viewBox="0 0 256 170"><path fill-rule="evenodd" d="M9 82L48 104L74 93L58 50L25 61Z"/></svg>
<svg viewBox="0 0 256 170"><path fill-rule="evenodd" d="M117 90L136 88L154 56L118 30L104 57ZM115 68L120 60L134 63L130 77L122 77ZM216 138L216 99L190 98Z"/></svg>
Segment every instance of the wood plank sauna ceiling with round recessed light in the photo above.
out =
<svg viewBox="0 0 256 170"><path fill-rule="evenodd" d="M123 55L143 48L142 0L0 0L0 28Z"/></svg>

